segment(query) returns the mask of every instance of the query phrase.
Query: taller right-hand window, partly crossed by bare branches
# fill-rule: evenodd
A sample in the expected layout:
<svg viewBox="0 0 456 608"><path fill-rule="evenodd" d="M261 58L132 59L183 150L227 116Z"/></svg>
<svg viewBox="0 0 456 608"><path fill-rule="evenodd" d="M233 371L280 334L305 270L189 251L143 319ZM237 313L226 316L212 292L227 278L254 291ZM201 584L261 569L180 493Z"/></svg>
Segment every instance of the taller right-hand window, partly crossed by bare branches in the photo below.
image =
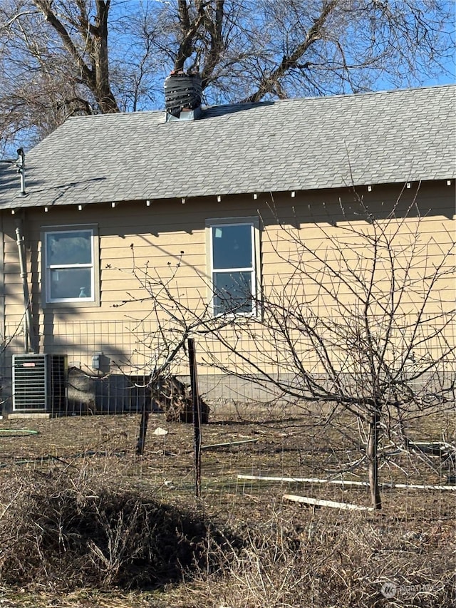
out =
<svg viewBox="0 0 456 608"><path fill-rule="evenodd" d="M208 220L210 299L218 314L257 314L258 218Z"/></svg>

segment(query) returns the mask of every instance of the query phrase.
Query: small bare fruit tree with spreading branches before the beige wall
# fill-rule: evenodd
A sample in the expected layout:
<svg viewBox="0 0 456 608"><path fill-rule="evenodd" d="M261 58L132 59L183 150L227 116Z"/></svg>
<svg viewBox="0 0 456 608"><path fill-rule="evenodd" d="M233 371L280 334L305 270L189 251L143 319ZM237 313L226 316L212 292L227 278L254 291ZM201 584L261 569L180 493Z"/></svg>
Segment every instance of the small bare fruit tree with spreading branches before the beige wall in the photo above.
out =
<svg viewBox="0 0 456 608"><path fill-rule="evenodd" d="M206 364L217 371L298 406L324 404L331 416L354 416L366 430L375 508L381 507L382 438L408 449L408 423L455 402L455 243L444 227L436 236L427 233L418 190L408 202L405 192L380 215L356 192L353 204L314 221L311 209L305 220L281 221L269 205L264 225L280 230L265 230L276 235L268 244L274 278L255 302L258 316L236 314L252 299L247 291L245 302L239 300L242 286L236 301L217 294L226 304L218 316L206 299L209 279L200 277L199 294L180 288L183 252L168 278L135 269L142 301L150 302L147 317L156 321L147 338L152 379L170 369L188 337L197 336ZM300 219L307 228L292 227ZM123 306L132 301L138 296Z"/></svg>

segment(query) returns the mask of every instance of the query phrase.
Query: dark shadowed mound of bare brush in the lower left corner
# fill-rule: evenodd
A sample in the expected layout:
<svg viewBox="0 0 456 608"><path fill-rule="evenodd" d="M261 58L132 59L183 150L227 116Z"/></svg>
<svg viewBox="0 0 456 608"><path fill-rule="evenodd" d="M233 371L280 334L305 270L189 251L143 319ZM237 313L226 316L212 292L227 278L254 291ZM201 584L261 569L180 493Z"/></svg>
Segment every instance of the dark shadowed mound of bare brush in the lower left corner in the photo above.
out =
<svg viewBox="0 0 456 608"><path fill-rule="evenodd" d="M203 562L207 570L210 543L223 544L196 512L83 476L34 472L3 485L9 500L0 520L4 584L160 586Z"/></svg>

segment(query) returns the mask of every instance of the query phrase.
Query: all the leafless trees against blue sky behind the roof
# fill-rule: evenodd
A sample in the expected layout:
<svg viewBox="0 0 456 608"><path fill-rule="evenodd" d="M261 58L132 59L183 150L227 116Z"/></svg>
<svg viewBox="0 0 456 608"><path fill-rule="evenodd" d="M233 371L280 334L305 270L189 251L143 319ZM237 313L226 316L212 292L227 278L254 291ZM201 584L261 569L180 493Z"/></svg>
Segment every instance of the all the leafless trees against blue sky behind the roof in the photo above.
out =
<svg viewBox="0 0 456 608"><path fill-rule="evenodd" d="M4 0L1 144L158 108L172 69L199 71L209 104L419 85L453 22L448 0Z"/></svg>

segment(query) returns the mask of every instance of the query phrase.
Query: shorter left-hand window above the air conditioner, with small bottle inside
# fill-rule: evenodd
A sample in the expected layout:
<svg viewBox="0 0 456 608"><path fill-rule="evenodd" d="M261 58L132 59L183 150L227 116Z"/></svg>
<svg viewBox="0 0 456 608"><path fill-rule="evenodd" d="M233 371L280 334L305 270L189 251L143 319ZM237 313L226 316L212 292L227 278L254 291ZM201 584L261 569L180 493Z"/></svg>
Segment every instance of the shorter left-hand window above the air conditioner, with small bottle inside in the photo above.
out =
<svg viewBox="0 0 456 608"><path fill-rule="evenodd" d="M46 303L97 304L95 228L62 227L44 232L43 247Z"/></svg>

